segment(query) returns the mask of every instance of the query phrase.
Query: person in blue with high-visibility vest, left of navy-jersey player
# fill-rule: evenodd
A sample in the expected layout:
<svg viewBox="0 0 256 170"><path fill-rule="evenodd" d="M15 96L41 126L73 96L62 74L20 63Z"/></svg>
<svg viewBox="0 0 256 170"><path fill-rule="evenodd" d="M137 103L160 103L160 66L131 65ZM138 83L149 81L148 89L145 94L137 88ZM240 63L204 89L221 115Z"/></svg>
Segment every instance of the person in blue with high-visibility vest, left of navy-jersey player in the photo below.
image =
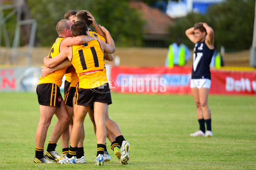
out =
<svg viewBox="0 0 256 170"><path fill-rule="evenodd" d="M180 37L177 37L176 42L169 45L165 66L169 68L172 68L174 65L184 66L189 59L189 48L182 43Z"/></svg>

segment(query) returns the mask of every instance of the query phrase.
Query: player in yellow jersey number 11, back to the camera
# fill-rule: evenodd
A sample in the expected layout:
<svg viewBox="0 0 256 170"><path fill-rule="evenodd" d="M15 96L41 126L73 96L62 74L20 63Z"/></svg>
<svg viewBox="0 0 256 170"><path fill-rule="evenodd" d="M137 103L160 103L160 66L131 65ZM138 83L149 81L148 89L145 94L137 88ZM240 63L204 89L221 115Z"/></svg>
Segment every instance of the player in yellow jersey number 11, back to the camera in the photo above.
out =
<svg viewBox="0 0 256 170"><path fill-rule="evenodd" d="M61 51L58 57L48 60L47 67L54 67L64 59L70 59L79 76L79 88L76 91L74 105L73 130L70 138L69 153L59 161L60 164L76 162L76 148L81 138L81 125L90 108L94 107L96 122L97 158L96 165L103 165L104 146L106 141L105 114L107 105L111 104L111 94L108 79L104 71L106 53L113 53L115 46L108 30L101 27L106 34L108 44L102 40L93 40L86 44L74 45ZM84 21L77 21L72 26L74 36L89 35Z"/></svg>

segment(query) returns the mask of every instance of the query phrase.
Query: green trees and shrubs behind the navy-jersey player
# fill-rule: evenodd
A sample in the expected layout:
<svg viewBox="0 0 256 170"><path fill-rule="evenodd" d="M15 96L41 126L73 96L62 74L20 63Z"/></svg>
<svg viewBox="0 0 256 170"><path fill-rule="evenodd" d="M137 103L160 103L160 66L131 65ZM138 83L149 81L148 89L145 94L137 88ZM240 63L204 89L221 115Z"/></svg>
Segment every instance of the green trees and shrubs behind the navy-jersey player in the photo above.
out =
<svg viewBox="0 0 256 170"><path fill-rule="evenodd" d="M227 50L249 49L253 40L255 0L227 0L209 6L205 15L191 13L175 20L170 28L170 42L175 36L183 37L183 42L192 48L185 31L198 22L206 22L214 30L216 48L222 45ZM173 34L175 33L175 34Z"/></svg>

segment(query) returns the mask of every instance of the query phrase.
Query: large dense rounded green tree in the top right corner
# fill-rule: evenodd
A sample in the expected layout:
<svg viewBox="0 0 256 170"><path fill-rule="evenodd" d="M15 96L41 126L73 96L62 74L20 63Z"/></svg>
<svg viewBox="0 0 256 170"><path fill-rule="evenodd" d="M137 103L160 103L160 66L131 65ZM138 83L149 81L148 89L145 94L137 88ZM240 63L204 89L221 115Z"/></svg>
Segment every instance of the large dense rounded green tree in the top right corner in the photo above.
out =
<svg viewBox="0 0 256 170"><path fill-rule="evenodd" d="M255 0L227 0L209 8L207 17L218 47L248 49L253 40Z"/></svg>

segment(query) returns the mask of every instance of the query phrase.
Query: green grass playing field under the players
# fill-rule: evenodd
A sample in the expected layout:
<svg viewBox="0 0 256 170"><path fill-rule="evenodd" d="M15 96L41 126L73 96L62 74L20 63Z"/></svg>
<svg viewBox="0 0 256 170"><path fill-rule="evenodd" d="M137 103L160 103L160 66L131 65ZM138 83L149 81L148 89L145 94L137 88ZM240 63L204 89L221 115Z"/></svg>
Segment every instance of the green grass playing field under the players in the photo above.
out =
<svg viewBox="0 0 256 170"><path fill-rule="evenodd" d="M111 161L96 167L96 137L84 122L86 164L35 164L39 105L35 93L0 93L1 170L256 170L255 96L209 96L213 138L189 137L198 130L190 95L112 94L111 119L131 143L128 165L119 165L107 140ZM52 120L47 133L56 122ZM56 151L61 153L61 142Z"/></svg>

